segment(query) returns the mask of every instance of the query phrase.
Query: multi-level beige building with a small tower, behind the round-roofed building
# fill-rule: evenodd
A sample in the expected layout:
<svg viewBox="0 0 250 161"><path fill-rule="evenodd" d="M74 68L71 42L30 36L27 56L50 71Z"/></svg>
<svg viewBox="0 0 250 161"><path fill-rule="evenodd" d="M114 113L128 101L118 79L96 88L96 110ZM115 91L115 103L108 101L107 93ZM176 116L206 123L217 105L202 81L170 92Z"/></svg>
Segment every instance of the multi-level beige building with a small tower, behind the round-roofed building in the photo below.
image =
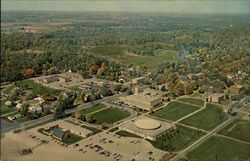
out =
<svg viewBox="0 0 250 161"><path fill-rule="evenodd" d="M162 103L162 98L159 93L154 90L145 90L140 92L138 88L135 88L133 95L120 97L120 101L131 107L137 107L144 110L152 110L155 106Z"/></svg>

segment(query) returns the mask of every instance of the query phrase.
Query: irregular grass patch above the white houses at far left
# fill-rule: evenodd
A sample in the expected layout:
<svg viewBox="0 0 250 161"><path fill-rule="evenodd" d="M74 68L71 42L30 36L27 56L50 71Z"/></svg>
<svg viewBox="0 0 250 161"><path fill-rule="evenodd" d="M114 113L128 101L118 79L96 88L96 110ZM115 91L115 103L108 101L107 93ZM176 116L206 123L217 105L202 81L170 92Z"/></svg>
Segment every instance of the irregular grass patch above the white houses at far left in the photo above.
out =
<svg viewBox="0 0 250 161"><path fill-rule="evenodd" d="M17 86L27 86L29 89L32 90L32 93L36 95L57 94L61 92L61 90L45 87L42 84L36 83L33 80L29 79L17 81L16 83Z"/></svg>

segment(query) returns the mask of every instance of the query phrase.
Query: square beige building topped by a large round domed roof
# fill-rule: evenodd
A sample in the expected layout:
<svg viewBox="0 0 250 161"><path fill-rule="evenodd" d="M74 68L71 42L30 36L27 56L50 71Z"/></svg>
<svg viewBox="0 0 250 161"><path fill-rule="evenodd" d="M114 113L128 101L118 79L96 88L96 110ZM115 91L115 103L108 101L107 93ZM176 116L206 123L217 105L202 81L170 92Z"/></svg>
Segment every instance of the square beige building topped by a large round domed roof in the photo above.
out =
<svg viewBox="0 0 250 161"><path fill-rule="evenodd" d="M141 136L149 140L156 140L168 130L175 129L175 124L152 119L146 116L139 116L119 127L120 130Z"/></svg>

